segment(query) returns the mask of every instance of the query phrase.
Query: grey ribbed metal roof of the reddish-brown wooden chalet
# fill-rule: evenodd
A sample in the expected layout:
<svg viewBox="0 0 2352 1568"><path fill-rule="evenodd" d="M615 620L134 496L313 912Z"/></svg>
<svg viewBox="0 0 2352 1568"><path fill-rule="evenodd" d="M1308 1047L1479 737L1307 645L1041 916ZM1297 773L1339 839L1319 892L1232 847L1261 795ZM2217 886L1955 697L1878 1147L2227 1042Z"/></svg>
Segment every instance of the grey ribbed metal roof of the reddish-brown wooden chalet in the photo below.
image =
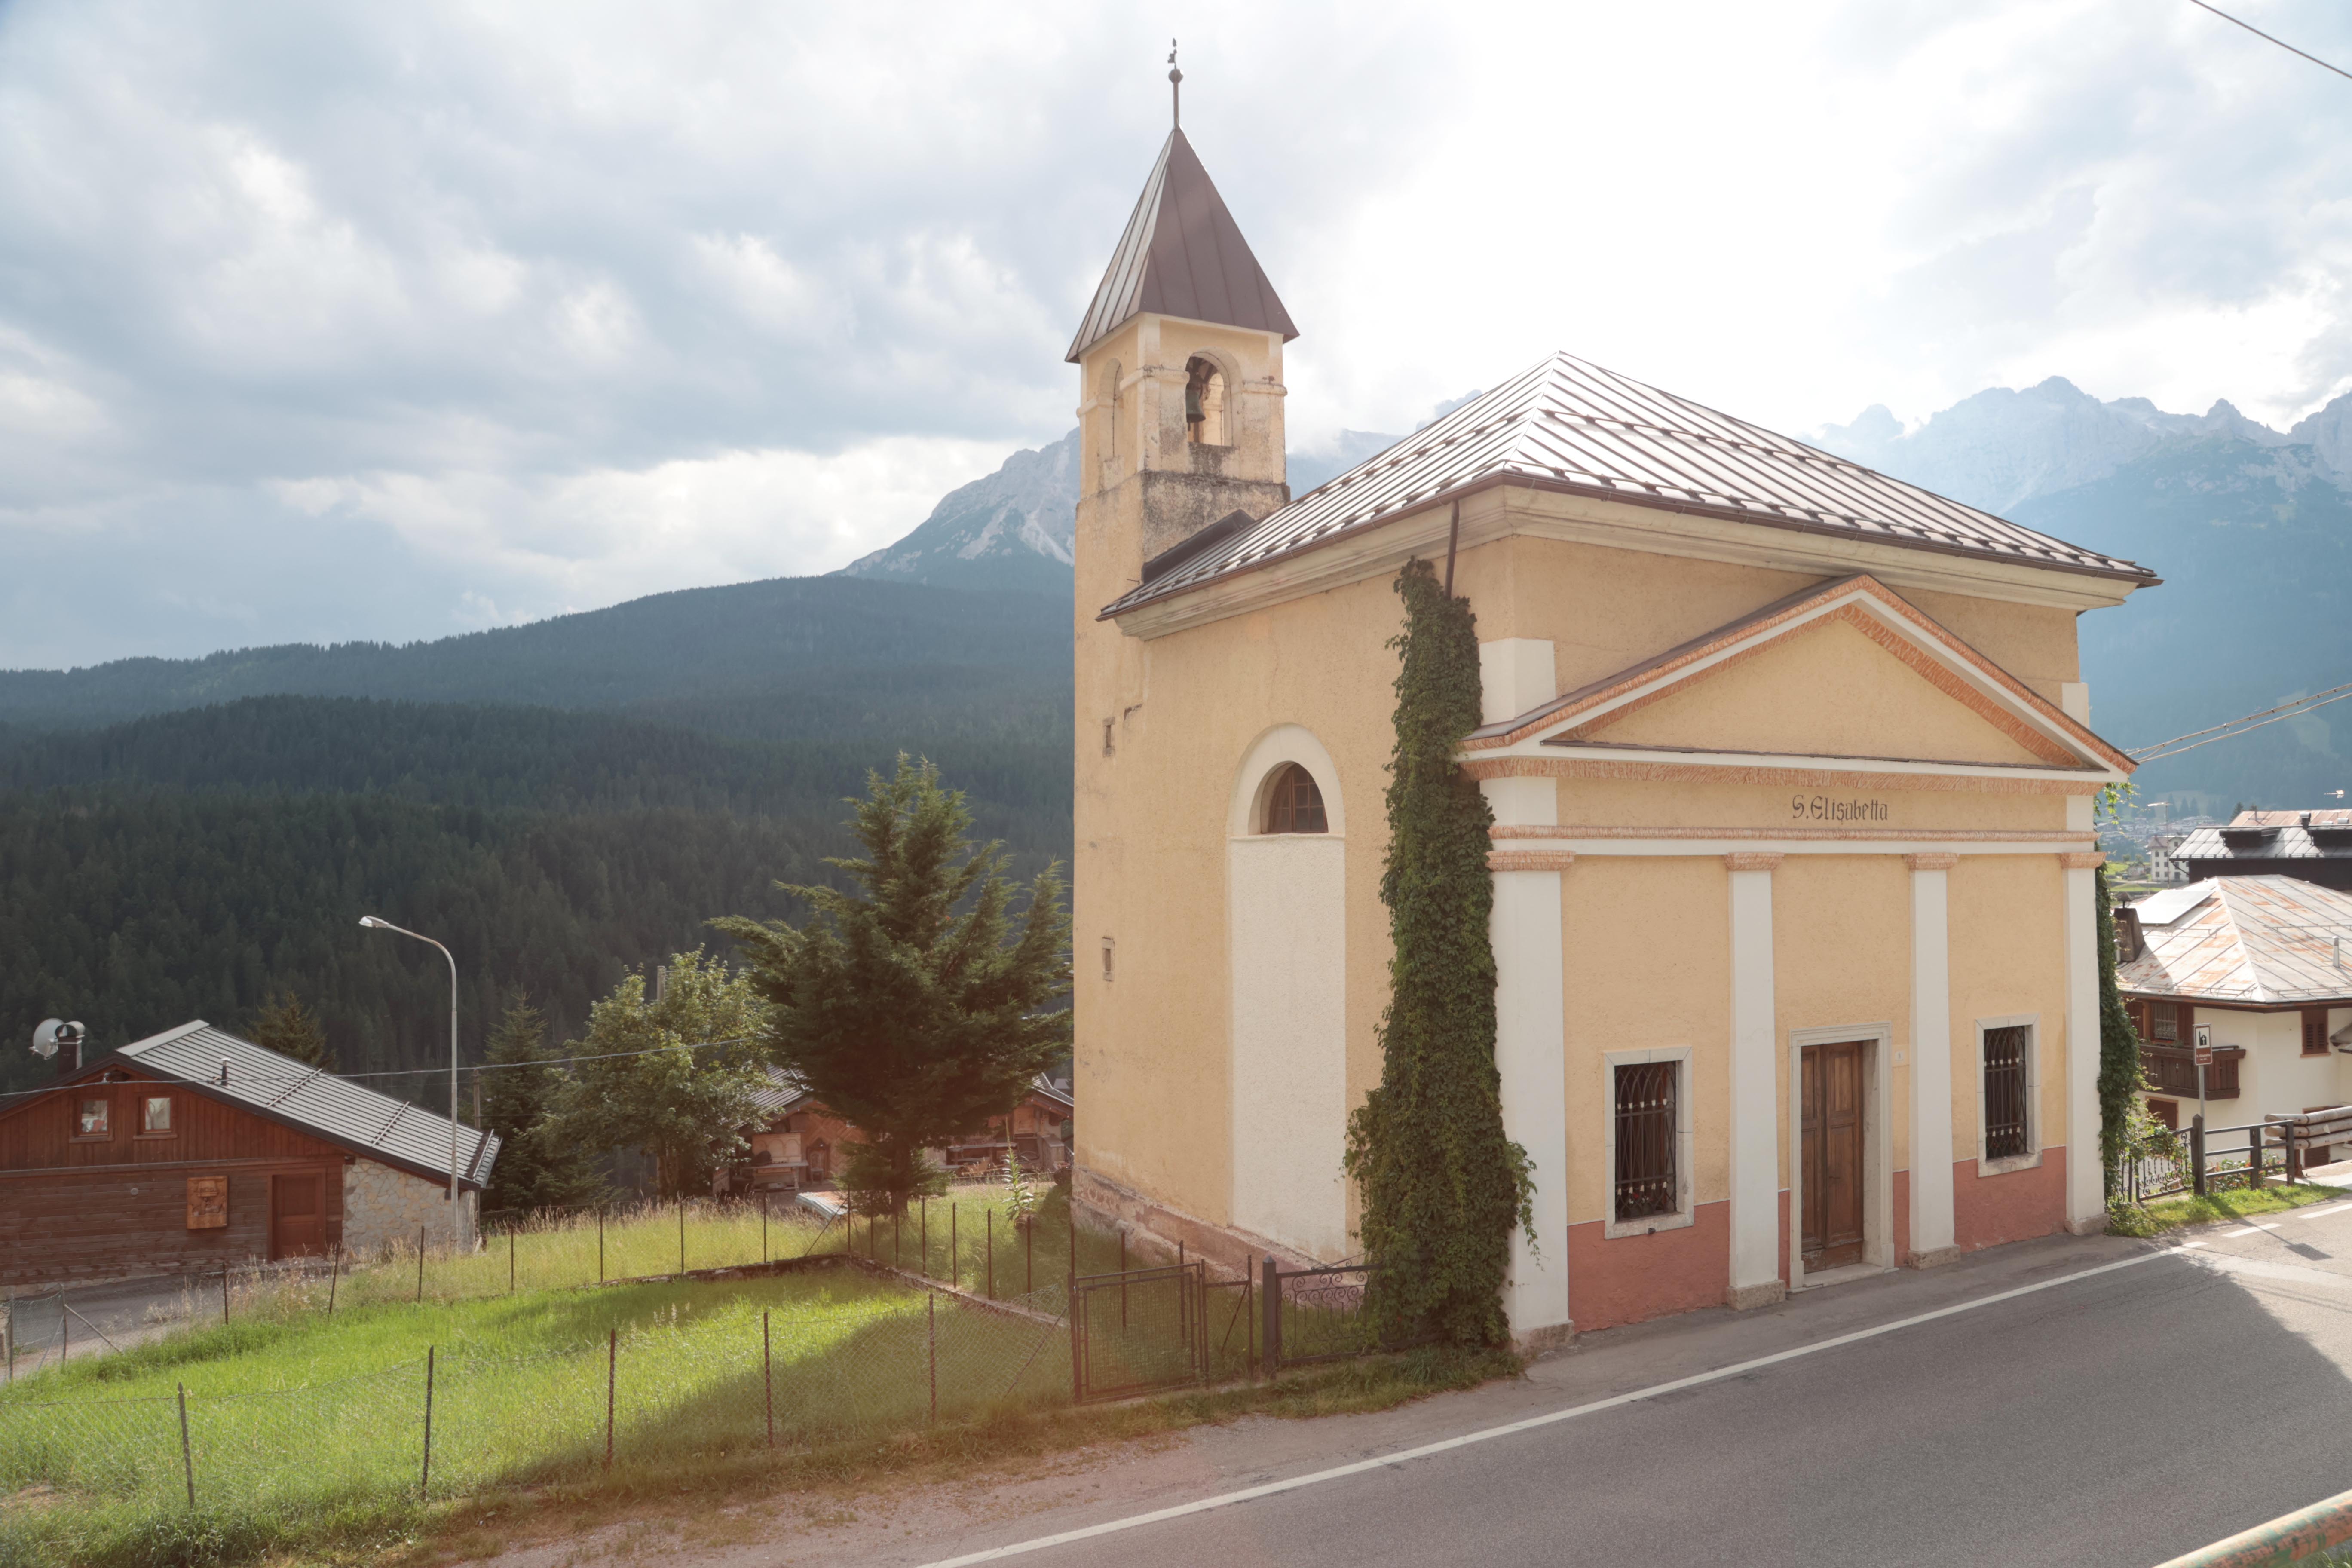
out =
<svg viewBox="0 0 2352 1568"><path fill-rule="evenodd" d="M449 1117L365 1088L198 1018L111 1053L216 1100L235 1100L358 1154L419 1175L449 1173ZM101 1067L96 1058L82 1072ZM226 1081L223 1081L226 1070ZM499 1161L499 1135L459 1126L459 1187L480 1187Z"/></svg>

